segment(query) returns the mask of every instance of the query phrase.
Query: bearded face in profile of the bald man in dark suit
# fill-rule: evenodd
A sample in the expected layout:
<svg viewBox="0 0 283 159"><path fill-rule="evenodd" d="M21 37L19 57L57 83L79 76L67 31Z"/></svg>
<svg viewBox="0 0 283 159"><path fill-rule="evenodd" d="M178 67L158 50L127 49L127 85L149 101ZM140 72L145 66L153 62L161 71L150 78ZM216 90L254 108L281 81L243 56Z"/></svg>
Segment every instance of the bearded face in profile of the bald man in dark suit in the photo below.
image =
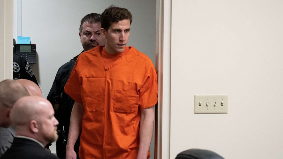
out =
<svg viewBox="0 0 283 159"><path fill-rule="evenodd" d="M48 143L57 140L58 124L59 122L54 117L54 110L52 108L52 105L49 103L48 109L45 109L41 115L41 128L39 132L41 132L43 140L45 140Z"/></svg>

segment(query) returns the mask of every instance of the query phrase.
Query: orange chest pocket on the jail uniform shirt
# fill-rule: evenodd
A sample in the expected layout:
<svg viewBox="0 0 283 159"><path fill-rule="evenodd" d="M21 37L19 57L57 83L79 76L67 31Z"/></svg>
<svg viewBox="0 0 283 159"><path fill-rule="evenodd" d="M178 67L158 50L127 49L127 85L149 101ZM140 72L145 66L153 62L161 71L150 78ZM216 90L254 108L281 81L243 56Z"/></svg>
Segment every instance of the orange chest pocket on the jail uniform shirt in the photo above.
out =
<svg viewBox="0 0 283 159"><path fill-rule="evenodd" d="M114 106L115 112L134 113L138 111L139 95L136 91L115 90Z"/></svg>

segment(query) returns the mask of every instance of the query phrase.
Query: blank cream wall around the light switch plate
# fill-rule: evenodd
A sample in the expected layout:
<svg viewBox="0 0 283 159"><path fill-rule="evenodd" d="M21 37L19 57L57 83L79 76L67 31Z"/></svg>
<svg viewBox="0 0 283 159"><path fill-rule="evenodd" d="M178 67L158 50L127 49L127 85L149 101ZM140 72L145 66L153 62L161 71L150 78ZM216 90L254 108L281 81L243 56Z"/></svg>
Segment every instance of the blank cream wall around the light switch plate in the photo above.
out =
<svg viewBox="0 0 283 159"><path fill-rule="evenodd" d="M172 1L170 158L283 156L283 1ZM228 114L194 114L194 94L228 94Z"/></svg>

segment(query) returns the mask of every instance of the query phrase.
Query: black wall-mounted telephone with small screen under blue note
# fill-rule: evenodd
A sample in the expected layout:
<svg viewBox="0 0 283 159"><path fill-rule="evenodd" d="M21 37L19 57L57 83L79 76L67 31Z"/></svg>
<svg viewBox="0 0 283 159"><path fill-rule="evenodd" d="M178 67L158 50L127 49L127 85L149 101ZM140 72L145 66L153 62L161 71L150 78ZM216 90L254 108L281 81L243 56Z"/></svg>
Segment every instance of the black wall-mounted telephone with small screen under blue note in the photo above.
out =
<svg viewBox="0 0 283 159"><path fill-rule="evenodd" d="M15 44L15 53L25 58L30 64L36 63L35 44Z"/></svg>

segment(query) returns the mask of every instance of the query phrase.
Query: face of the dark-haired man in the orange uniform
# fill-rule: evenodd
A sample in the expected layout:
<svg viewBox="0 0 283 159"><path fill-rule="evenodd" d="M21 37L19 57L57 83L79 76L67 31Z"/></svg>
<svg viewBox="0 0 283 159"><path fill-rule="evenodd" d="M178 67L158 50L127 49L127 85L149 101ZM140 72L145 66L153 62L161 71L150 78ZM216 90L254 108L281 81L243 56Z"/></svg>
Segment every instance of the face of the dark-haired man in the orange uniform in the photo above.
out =
<svg viewBox="0 0 283 159"><path fill-rule="evenodd" d="M106 38L105 49L108 53L123 52L130 37L130 20L124 19L112 23L107 31L104 28L101 31L103 37Z"/></svg>

